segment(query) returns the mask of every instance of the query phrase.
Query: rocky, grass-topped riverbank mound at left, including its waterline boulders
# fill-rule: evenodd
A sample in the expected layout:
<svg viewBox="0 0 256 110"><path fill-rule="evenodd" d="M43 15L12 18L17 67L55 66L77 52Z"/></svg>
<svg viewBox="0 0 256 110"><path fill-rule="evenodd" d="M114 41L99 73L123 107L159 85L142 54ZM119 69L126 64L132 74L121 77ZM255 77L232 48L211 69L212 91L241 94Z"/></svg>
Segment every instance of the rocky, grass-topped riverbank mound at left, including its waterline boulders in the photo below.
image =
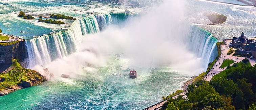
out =
<svg viewBox="0 0 256 110"><path fill-rule="evenodd" d="M39 72L22 68L18 61L14 59L13 64L0 73L0 96L21 88L38 85L44 81L46 81L46 78Z"/></svg>

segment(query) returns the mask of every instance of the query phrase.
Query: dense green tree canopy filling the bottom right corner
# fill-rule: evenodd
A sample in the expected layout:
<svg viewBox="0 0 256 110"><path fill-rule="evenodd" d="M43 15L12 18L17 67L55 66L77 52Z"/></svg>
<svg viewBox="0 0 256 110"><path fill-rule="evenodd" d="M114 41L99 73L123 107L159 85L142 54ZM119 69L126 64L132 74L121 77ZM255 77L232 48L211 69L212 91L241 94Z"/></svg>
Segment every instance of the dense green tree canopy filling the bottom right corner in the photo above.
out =
<svg viewBox="0 0 256 110"><path fill-rule="evenodd" d="M187 99L169 99L161 110L254 110L256 65L247 60L227 69L226 76L189 85Z"/></svg>

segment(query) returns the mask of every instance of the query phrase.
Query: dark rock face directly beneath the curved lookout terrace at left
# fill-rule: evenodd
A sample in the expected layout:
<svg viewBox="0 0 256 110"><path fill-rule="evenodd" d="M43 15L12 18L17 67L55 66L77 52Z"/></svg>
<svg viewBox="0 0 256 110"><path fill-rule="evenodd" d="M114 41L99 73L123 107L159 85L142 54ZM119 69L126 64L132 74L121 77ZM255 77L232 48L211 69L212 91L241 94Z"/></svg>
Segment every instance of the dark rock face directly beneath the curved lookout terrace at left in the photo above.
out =
<svg viewBox="0 0 256 110"><path fill-rule="evenodd" d="M0 65L12 64L19 42L12 45L0 45Z"/></svg>

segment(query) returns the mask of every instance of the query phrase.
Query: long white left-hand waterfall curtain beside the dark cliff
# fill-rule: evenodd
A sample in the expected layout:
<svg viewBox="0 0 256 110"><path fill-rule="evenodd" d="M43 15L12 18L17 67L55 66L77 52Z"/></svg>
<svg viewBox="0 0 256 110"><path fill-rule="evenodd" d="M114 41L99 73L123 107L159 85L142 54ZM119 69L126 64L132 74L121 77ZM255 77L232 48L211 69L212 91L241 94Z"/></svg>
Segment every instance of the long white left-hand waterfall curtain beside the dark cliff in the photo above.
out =
<svg viewBox="0 0 256 110"><path fill-rule="evenodd" d="M100 32L110 24L112 24L110 14L78 17L66 31L26 40L25 46L28 50L26 62L29 64L26 68L45 65L76 52L85 34Z"/></svg>

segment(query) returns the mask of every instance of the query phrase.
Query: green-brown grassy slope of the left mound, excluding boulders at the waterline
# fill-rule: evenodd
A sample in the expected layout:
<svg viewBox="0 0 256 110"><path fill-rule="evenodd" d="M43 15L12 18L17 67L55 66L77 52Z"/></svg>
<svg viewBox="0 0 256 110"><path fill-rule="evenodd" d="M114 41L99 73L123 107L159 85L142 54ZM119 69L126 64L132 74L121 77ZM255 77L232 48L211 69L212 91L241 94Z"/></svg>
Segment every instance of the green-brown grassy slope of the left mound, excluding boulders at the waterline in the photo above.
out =
<svg viewBox="0 0 256 110"><path fill-rule="evenodd" d="M46 81L37 71L22 68L16 59L13 60L12 66L0 73L0 78L4 78L4 81L0 82L0 90L18 85L21 81L32 82L32 85Z"/></svg>

